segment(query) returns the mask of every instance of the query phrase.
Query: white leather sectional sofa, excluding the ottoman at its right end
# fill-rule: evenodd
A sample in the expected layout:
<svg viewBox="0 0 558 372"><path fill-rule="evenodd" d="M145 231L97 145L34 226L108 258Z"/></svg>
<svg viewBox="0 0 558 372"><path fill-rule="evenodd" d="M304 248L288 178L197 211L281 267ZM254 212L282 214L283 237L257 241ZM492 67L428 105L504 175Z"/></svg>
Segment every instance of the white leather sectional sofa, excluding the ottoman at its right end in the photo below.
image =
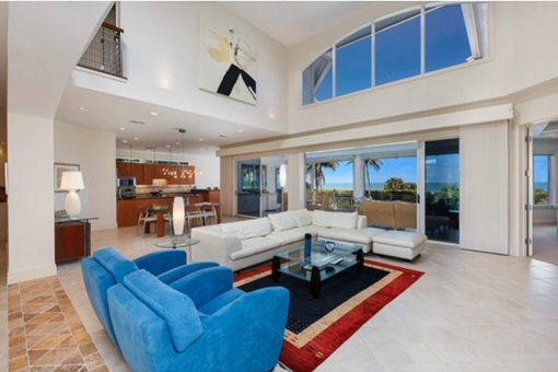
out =
<svg viewBox="0 0 558 372"><path fill-rule="evenodd" d="M287 211L269 217L194 228L193 261L211 260L234 271L274 258L276 253L301 246L304 234L336 242L362 245L372 251L372 240L385 230L368 228L367 218L357 212Z"/></svg>

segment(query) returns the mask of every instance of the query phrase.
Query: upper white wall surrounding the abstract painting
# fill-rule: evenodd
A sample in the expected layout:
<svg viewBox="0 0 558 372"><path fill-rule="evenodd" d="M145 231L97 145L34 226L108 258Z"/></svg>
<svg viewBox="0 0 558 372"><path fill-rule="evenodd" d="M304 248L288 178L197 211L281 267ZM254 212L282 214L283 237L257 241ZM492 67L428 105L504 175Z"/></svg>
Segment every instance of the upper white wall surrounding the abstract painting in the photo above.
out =
<svg viewBox="0 0 558 372"><path fill-rule="evenodd" d="M256 44L257 105L198 88L200 12L221 19ZM153 24L156 26L148 26ZM126 83L75 70L71 84L228 121L287 131L287 48L217 2L123 1L120 26L125 30Z"/></svg>

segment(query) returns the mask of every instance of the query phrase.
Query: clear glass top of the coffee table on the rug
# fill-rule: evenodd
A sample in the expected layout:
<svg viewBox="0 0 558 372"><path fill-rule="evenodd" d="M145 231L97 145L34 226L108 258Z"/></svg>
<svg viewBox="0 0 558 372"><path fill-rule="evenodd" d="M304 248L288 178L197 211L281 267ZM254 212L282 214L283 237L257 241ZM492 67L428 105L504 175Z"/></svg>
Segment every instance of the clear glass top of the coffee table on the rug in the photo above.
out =
<svg viewBox="0 0 558 372"><path fill-rule="evenodd" d="M328 247L326 247L326 243L329 245ZM310 265L322 270L326 266L335 264L340 259L342 260L361 248L361 245L356 244L316 241L312 242L312 253L309 258L304 257L304 246L278 253L276 257L288 259L290 263L299 263L302 266Z"/></svg>

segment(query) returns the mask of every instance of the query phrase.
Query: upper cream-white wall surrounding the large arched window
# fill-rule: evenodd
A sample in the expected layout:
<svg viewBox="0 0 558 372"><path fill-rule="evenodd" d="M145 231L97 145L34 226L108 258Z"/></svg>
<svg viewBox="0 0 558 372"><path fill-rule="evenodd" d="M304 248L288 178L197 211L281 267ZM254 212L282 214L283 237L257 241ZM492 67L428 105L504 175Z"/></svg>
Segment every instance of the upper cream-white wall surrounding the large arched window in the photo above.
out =
<svg viewBox="0 0 558 372"><path fill-rule="evenodd" d="M373 125L376 124L373 120L382 123L394 116L504 97L557 78L558 3L490 2L489 9L489 58L305 107L301 106L302 71L335 40L379 14L371 9L368 14L363 12L292 47L289 49L290 131L357 123Z"/></svg>

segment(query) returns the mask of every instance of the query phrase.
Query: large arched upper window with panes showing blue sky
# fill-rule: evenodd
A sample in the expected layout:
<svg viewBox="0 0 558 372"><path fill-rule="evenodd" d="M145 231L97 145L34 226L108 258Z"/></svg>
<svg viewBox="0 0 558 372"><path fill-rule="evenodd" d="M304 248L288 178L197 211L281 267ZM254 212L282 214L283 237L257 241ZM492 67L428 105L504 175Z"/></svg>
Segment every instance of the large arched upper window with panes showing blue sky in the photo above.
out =
<svg viewBox="0 0 558 372"><path fill-rule="evenodd" d="M487 3L412 8L335 43L302 73L302 103L466 63L487 56Z"/></svg>

